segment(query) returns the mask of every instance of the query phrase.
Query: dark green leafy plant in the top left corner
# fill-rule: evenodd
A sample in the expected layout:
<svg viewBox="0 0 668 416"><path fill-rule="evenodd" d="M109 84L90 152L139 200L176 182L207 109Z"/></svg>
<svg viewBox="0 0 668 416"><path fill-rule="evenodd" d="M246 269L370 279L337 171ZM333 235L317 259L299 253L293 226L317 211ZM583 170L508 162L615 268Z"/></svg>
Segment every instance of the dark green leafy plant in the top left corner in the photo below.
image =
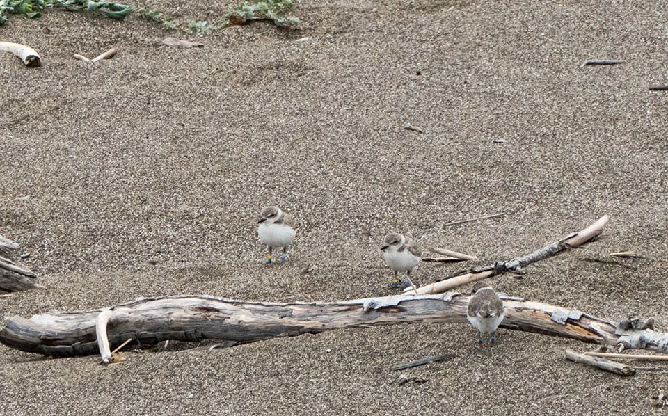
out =
<svg viewBox="0 0 668 416"><path fill-rule="evenodd" d="M116 20L125 19L132 13L132 6L114 3L113 1L93 0L0 0L0 24L7 22L8 15L24 15L26 17L42 17L47 8L64 8L70 11L91 10L103 13L106 17Z"/></svg>

